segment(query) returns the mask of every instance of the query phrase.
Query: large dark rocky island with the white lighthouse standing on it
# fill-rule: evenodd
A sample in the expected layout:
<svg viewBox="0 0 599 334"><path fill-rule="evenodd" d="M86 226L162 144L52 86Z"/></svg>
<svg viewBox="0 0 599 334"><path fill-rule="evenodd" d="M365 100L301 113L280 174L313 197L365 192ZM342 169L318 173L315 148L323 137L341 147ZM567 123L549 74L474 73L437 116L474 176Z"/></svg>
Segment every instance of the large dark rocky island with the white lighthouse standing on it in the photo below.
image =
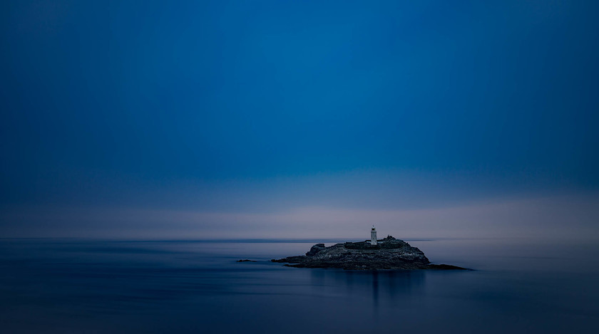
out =
<svg viewBox="0 0 599 334"><path fill-rule="evenodd" d="M392 236L378 240L376 246L371 245L370 241L346 242L329 247L325 247L324 244L315 244L305 256L290 256L271 261L290 263L285 266L297 268L465 270L458 266L431 264L420 249Z"/></svg>

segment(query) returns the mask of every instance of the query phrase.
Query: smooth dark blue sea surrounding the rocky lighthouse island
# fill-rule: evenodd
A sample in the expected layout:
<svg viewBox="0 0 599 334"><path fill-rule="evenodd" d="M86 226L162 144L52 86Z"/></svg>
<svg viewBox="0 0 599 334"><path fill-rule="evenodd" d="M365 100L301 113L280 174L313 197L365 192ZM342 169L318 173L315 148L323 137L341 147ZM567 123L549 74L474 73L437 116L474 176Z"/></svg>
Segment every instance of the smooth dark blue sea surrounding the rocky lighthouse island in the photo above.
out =
<svg viewBox="0 0 599 334"><path fill-rule="evenodd" d="M595 244L409 241L435 263L476 271L267 261L315 242L3 239L1 331L599 333Z"/></svg>

